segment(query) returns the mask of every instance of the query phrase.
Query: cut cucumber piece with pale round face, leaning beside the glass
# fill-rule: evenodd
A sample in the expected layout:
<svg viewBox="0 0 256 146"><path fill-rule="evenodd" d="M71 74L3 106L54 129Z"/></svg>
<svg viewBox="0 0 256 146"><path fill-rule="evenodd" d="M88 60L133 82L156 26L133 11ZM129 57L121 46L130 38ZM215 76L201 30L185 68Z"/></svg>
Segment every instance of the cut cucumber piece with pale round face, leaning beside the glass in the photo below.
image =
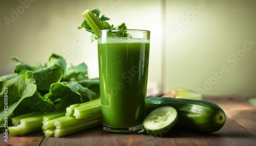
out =
<svg viewBox="0 0 256 146"><path fill-rule="evenodd" d="M145 117L143 127L149 135L162 136L176 124L177 119L178 114L175 108L163 106L156 108Z"/></svg>

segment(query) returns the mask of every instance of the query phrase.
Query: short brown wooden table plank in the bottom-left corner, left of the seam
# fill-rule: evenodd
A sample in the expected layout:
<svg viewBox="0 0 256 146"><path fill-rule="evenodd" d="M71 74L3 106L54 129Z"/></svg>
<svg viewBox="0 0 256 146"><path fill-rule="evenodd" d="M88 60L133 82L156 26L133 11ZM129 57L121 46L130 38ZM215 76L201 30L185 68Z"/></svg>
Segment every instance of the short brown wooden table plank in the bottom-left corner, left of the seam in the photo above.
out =
<svg viewBox="0 0 256 146"><path fill-rule="evenodd" d="M23 145L40 145L42 140L44 139L44 133L41 131L28 133L21 136L11 136L8 134L8 142L4 141L3 133L0 134L0 145L15 145L15 146L23 146Z"/></svg>

